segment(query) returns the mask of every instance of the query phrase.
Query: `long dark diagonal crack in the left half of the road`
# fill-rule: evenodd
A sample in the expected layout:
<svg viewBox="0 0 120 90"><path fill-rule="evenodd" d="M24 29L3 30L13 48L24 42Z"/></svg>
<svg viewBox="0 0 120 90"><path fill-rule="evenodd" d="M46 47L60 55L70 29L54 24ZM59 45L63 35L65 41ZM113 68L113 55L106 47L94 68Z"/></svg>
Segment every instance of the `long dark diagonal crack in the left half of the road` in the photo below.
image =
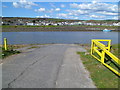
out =
<svg viewBox="0 0 120 90"><path fill-rule="evenodd" d="M43 56L41 59L43 59L45 57L47 57L47 56ZM25 70L23 70L15 79L13 79L10 83L8 83L8 88L12 88L11 84L13 82L15 82L19 77L21 77L26 72L26 70L28 70L31 66L33 66L38 61L41 61L41 59L36 60L35 62L31 63L28 67L26 67Z"/></svg>

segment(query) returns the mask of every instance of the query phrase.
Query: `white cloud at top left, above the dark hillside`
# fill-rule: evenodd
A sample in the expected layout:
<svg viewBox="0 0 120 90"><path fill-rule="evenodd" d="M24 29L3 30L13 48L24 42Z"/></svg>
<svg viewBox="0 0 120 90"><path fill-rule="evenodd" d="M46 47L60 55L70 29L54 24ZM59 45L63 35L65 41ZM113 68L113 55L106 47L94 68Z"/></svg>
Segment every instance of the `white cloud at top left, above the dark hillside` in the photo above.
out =
<svg viewBox="0 0 120 90"><path fill-rule="evenodd" d="M20 0L19 2L13 2L13 6L15 8L31 9L32 6L38 6L38 5L33 2L27 2L26 0Z"/></svg>

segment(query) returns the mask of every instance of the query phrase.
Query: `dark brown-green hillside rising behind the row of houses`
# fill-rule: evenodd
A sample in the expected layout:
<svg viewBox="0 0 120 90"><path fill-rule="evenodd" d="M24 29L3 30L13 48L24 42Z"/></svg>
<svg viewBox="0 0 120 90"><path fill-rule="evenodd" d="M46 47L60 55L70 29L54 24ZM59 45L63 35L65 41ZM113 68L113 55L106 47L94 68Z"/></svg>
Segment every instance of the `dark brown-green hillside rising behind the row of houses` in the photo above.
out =
<svg viewBox="0 0 120 90"><path fill-rule="evenodd" d="M28 17L2 17L2 21L17 21L19 19L25 21L53 21L53 22L78 22L78 21L85 21L91 23L118 23L118 20L71 20L71 19L56 19L56 18L28 18Z"/></svg>

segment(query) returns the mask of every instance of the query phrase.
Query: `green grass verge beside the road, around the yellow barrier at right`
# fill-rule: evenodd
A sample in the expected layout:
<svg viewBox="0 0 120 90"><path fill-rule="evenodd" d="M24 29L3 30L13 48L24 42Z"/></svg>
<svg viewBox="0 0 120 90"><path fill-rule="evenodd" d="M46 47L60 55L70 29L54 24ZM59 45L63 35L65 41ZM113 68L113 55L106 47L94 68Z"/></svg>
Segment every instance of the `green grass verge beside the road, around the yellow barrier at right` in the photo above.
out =
<svg viewBox="0 0 120 90"><path fill-rule="evenodd" d="M119 45L112 45L112 52L118 55ZM90 46L85 47L90 53ZM97 88L118 88L119 77L102 65L99 61L93 58L90 54L85 55L85 52L77 52L81 56L81 60L86 69L90 72L90 76ZM113 64L110 64L113 66Z"/></svg>

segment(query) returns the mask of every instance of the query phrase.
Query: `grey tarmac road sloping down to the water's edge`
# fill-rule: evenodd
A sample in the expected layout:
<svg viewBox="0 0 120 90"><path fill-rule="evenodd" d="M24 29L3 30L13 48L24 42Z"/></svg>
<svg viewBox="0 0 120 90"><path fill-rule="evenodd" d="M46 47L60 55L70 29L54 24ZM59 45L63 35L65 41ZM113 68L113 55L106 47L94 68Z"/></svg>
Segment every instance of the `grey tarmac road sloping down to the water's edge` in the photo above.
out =
<svg viewBox="0 0 120 90"><path fill-rule="evenodd" d="M2 88L96 88L74 44L43 45L8 57L2 65Z"/></svg>

